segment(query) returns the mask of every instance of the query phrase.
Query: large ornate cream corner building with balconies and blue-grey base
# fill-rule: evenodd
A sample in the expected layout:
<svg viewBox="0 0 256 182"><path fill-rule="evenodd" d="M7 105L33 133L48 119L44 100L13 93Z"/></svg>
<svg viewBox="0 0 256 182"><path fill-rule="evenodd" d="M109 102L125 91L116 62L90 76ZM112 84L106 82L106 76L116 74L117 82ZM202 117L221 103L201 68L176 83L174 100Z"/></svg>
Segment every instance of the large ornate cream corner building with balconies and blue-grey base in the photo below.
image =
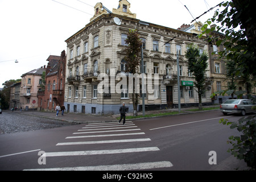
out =
<svg viewBox="0 0 256 182"><path fill-rule="evenodd" d="M192 74L187 68L185 51L192 43L197 44L202 51L208 51L208 44L203 39L190 32L136 19L136 14L131 13L130 3L126 0L119 1L118 9L113 9L113 12L106 9L102 3L97 3L94 10L90 23L65 41L67 67L64 105L68 111L115 114L119 113L119 106L123 102L129 107L129 111L133 110L131 93L128 87L121 84L121 80L129 80L131 76L126 73L125 61L125 39L129 29L137 29L143 43L141 69L146 76L146 110L177 107L178 86L181 107L198 105L199 100L193 86ZM179 84L177 74L180 76ZM141 75L141 71L138 71L138 75ZM210 72L207 72L207 76L209 79L205 84L203 106L212 104ZM148 82L151 77L152 84ZM138 80L142 96L142 79L135 79ZM104 93L99 92L102 88L98 87L102 87L103 80L109 83L108 92ZM151 92L152 89L154 92ZM141 106L142 99L138 110Z"/></svg>

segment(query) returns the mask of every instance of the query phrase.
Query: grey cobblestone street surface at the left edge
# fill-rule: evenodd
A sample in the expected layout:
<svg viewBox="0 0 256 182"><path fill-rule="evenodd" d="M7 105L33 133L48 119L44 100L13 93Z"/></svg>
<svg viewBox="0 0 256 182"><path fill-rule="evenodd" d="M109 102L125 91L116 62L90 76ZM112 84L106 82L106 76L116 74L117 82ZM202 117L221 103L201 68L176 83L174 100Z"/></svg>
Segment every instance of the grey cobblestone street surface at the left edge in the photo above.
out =
<svg viewBox="0 0 256 182"><path fill-rule="evenodd" d="M74 125L74 123L19 114L18 111L3 111L0 114L0 134L52 129L71 125Z"/></svg>

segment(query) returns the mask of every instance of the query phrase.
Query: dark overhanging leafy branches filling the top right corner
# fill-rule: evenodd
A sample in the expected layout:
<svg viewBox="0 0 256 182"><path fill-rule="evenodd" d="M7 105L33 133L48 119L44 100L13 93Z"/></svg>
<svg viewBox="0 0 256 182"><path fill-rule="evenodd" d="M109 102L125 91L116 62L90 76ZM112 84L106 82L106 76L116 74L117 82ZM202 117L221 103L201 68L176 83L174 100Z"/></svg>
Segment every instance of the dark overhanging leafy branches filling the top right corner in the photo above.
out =
<svg viewBox="0 0 256 182"><path fill-rule="evenodd" d="M209 42L215 42L217 46L224 44L225 50L218 52L221 57L233 60L240 67L243 75L256 77L256 11L253 0L233 0L221 3L225 9L216 11L213 18L207 20L201 30L199 38L204 34L217 31L225 34L220 36L208 36ZM211 26L220 24L219 26Z"/></svg>

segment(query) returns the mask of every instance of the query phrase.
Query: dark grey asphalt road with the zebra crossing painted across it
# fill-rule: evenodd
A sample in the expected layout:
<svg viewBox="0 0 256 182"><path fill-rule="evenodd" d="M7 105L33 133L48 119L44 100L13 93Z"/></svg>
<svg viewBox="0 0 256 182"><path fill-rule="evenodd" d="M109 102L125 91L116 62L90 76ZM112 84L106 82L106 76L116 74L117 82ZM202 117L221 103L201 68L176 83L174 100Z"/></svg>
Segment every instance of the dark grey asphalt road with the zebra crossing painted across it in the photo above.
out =
<svg viewBox="0 0 256 182"><path fill-rule="evenodd" d="M226 141L239 135L220 118L241 117L215 110L3 134L0 170L213 170L232 158ZM217 164L209 164L210 151Z"/></svg>

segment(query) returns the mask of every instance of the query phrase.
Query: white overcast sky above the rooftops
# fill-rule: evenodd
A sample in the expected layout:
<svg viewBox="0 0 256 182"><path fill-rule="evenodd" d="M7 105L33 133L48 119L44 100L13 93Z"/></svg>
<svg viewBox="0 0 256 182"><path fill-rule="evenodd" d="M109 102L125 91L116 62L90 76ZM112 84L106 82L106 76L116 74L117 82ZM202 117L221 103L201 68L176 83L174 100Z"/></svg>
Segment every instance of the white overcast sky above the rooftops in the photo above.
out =
<svg viewBox="0 0 256 182"><path fill-rule="evenodd" d="M191 24L222 1L226 0L129 0L137 19L170 28ZM67 53L65 40L89 23L97 2L112 11L119 0L0 0L0 88L7 80L47 65L49 55ZM217 9L199 20L204 23Z"/></svg>

